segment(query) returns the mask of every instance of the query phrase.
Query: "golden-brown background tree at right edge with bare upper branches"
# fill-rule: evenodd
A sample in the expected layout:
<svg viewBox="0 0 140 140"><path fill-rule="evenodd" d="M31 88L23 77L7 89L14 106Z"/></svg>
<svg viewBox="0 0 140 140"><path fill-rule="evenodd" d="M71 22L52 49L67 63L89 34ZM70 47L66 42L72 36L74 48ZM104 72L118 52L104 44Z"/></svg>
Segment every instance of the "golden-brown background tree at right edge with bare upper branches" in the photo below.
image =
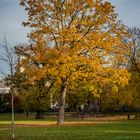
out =
<svg viewBox="0 0 140 140"><path fill-rule="evenodd" d="M126 68L130 72L130 79L128 85L117 86L117 94L112 97L117 101L118 107L120 106L123 111L128 112L128 119L130 111L136 111L140 107L140 30L139 28L129 28L132 43L129 46L130 53L127 55L128 62Z"/></svg>

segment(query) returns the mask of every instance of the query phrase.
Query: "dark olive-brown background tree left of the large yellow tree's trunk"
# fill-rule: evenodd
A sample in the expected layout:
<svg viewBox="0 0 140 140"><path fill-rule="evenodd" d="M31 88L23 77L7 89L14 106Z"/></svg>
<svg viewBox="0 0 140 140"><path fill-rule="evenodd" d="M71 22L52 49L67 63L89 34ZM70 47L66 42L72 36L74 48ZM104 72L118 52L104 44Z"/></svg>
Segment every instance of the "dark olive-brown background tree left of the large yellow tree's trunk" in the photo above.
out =
<svg viewBox="0 0 140 140"><path fill-rule="evenodd" d="M17 49L17 48L16 48ZM44 118L44 111L50 106L49 87L44 80L39 80L31 84L26 75L17 68L14 75L18 97L22 108L26 111L26 116L30 110L36 111L36 119Z"/></svg>

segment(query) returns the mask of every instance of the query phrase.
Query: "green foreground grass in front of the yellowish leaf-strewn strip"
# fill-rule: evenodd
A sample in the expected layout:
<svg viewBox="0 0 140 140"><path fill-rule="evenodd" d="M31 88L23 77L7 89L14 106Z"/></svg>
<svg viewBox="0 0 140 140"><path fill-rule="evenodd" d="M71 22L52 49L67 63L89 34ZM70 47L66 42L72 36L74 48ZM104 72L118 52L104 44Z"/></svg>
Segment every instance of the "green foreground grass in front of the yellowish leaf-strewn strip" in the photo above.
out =
<svg viewBox="0 0 140 140"><path fill-rule="evenodd" d="M0 127L0 140L10 140L11 125L0 125ZM25 123L25 125L16 125L15 136L16 140L140 140L140 121L61 127L56 125L28 126Z"/></svg>

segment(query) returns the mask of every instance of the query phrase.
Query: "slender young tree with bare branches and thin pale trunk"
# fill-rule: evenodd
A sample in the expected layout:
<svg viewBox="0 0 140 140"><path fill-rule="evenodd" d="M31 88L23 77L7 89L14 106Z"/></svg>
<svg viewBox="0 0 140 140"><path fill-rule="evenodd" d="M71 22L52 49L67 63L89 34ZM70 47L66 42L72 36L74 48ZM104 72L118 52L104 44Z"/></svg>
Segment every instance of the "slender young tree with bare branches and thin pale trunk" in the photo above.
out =
<svg viewBox="0 0 140 140"><path fill-rule="evenodd" d="M2 73L5 76L8 86L10 86L11 92L11 105L12 105L12 140L14 140L14 92L15 92L15 85L14 85L14 72L15 72L15 64L17 62L16 55L14 52L14 48L9 47L6 37L4 39L4 45L0 44L1 47L1 54L0 54L0 61L5 63L9 68L9 73Z"/></svg>

